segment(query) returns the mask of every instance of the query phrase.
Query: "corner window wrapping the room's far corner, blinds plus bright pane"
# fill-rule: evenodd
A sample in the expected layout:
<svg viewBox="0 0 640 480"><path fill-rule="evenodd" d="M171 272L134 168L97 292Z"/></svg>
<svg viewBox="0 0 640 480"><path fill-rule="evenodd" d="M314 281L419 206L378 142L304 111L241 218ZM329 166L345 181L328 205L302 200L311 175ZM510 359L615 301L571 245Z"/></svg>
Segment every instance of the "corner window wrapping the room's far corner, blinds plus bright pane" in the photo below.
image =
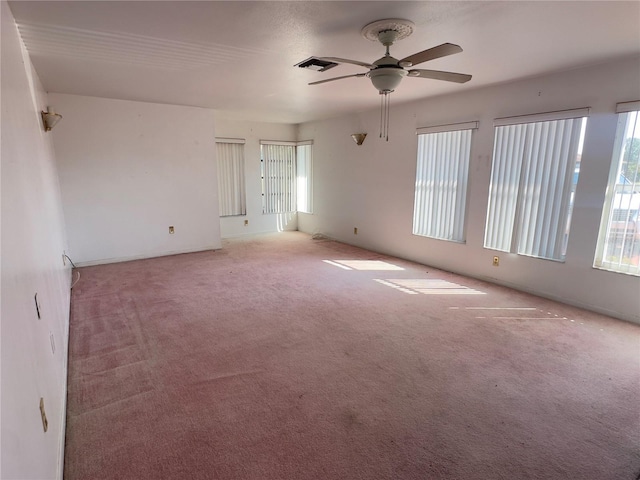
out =
<svg viewBox="0 0 640 480"><path fill-rule="evenodd" d="M312 142L260 142L262 212L311 213Z"/></svg>

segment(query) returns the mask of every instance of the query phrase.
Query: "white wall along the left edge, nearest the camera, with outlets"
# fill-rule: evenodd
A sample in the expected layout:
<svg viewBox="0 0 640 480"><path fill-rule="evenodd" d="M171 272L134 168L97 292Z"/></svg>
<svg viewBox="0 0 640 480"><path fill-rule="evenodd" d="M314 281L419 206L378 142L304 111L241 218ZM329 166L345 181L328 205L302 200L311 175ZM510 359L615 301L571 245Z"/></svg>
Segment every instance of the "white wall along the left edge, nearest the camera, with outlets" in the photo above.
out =
<svg viewBox="0 0 640 480"><path fill-rule="evenodd" d="M70 269L47 106L5 1L2 18L0 477L62 478ZM41 304L36 315L34 295ZM55 351L52 348L55 344ZM45 433L39 402L49 421Z"/></svg>

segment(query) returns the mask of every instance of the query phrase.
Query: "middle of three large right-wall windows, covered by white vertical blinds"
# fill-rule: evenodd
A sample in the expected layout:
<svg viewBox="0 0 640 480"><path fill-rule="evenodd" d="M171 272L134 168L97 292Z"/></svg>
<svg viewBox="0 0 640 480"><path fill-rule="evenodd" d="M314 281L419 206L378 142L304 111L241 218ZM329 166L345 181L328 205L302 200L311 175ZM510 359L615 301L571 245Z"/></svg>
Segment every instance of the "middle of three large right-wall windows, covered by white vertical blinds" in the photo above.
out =
<svg viewBox="0 0 640 480"><path fill-rule="evenodd" d="M495 121L486 248L564 260L588 113Z"/></svg>

